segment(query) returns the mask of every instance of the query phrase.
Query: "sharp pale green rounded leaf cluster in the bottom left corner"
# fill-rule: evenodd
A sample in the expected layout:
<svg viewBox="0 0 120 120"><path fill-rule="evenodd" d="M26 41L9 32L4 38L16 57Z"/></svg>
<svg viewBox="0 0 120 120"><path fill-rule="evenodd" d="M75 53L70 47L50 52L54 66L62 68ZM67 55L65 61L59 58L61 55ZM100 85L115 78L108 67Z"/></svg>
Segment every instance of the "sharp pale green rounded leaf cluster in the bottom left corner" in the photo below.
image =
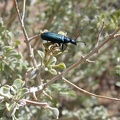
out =
<svg viewBox="0 0 120 120"><path fill-rule="evenodd" d="M15 112L22 106L20 99L28 92L27 88L24 88L25 82L20 79L16 79L12 86L4 85L0 88L0 99L1 99L1 118L3 114L7 117L16 119ZM3 117L4 118L4 117Z"/></svg>

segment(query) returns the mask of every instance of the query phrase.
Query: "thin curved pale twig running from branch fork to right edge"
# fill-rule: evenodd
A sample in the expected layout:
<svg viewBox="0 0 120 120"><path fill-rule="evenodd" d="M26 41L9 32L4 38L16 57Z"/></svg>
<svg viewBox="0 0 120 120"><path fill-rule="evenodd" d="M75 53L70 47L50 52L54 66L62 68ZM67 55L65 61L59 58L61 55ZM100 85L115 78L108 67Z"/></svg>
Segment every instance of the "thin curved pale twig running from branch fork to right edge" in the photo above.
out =
<svg viewBox="0 0 120 120"><path fill-rule="evenodd" d="M71 83L70 81L68 81L68 80L65 79L64 77L62 77L62 79L63 79L66 83L68 83L70 86L76 88L76 89L79 90L80 92L83 92L83 93L85 93L85 94L87 94L87 95L94 96L94 97L97 97L97 98L104 98L104 99L108 99L108 100L120 101L120 99L118 99L118 98L111 98L111 97L106 97L106 96L101 96L101 95L96 95L96 94L90 93L90 92L88 92L88 91L86 91L86 90L84 90L84 89L76 86L75 84Z"/></svg>

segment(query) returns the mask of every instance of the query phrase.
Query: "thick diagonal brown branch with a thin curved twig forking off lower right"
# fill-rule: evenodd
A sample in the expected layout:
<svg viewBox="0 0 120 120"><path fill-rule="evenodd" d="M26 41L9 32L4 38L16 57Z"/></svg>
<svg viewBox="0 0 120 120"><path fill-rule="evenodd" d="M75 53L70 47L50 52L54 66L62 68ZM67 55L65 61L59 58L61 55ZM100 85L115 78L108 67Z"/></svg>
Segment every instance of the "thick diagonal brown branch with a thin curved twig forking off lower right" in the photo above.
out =
<svg viewBox="0 0 120 120"><path fill-rule="evenodd" d="M102 27L103 29L103 27ZM101 31L102 31L101 29ZM86 60L88 60L88 58L90 58L93 54L98 53L98 50L103 47L107 42L109 42L110 40L113 40L114 38L116 38L116 34L117 32L120 30L120 27L118 27L118 29L116 29L112 34L109 35L109 37L104 40L102 43L98 44L95 48L93 48L86 56L82 56L76 63L74 63L73 65L71 65L69 68L67 68L65 71L63 71L61 74L55 76L54 78L52 78L48 83L46 83L44 85L44 88L46 88L47 86L49 86L50 84L54 83L57 80L63 79L66 83L68 83L69 85L71 85L72 87L76 88L77 90L84 92L85 94L88 94L90 96L95 96L98 98L104 98L104 99L109 99L109 100L114 100L114 101L120 101L120 99L118 98L111 98L111 97L106 97L106 96L101 96L101 95L96 95L93 93L90 93L86 90L81 89L80 87L76 86L75 84L71 83L70 81L66 80L64 78L64 76L67 75L67 73L76 68L77 66L79 66L80 64L82 64L83 62L85 62ZM99 34L101 34L101 32L99 32Z"/></svg>

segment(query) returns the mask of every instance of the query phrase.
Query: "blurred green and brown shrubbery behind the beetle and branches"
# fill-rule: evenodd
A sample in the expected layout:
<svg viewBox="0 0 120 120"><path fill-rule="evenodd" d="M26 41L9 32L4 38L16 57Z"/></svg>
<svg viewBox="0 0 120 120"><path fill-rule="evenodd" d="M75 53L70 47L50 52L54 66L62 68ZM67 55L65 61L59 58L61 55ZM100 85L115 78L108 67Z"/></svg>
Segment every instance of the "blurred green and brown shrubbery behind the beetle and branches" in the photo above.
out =
<svg viewBox="0 0 120 120"><path fill-rule="evenodd" d="M23 1L18 0L20 12ZM25 71L31 66L29 51L12 0L0 1L0 82L1 86L11 85L15 79L24 80ZM100 42L120 25L119 0L27 0L25 28L29 37L40 30L67 32L69 38L86 42L77 46L68 45L68 52L57 57L57 63L69 67L81 55L94 48L98 32L105 22ZM31 42L35 58L40 62L37 50L43 51L43 41ZM90 58L95 63L83 63L70 71L66 78L77 86L104 96L120 97L120 44L119 38L110 41L100 49L99 54ZM54 75L42 71L42 79L48 81ZM35 80L30 85L37 86ZM59 80L49 86L41 101L59 109L59 120L119 120L120 103L87 96ZM3 111L0 112L2 116ZM51 111L29 105L16 113L19 120L53 120Z"/></svg>

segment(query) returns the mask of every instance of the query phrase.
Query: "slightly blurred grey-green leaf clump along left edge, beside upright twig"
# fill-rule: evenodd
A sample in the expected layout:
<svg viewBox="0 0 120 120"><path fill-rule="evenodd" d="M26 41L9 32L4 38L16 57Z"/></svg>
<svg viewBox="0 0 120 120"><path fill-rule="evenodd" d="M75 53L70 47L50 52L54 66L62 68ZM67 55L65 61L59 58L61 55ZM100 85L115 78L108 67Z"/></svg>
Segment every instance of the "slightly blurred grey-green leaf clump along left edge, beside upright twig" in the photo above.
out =
<svg viewBox="0 0 120 120"><path fill-rule="evenodd" d="M14 35L8 31L0 18L0 82L1 84L13 83L14 79L22 78L22 73L27 67L22 53L16 50Z"/></svg>

